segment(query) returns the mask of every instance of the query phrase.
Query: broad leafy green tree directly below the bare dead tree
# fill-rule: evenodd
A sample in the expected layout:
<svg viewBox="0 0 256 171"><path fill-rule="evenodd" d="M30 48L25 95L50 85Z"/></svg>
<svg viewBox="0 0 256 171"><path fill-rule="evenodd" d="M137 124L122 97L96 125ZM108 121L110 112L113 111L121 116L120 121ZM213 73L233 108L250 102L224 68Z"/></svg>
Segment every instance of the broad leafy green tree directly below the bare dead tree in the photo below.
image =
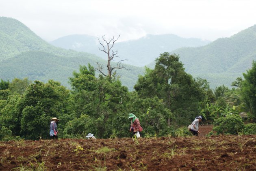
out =
<svg viewBox="0 0 256 171"><path fill-rule="evenodd" d="M80 72L73 73L70 78L72 85L72 100L76 119L80 122L80 117L89 116L95 126L94 134L97 137L106 138L113 132L112 120L115 115L124 114L125 105L128 98L128 88L121 85L119 79L115 77L94 76L93 68L90 66L80 66ZM117 114L118 113L118 114ZM67 123L68 124L68 123ZM82 130L91 130L83 127ZM69 131L66 129L66 135Z"/></svg>

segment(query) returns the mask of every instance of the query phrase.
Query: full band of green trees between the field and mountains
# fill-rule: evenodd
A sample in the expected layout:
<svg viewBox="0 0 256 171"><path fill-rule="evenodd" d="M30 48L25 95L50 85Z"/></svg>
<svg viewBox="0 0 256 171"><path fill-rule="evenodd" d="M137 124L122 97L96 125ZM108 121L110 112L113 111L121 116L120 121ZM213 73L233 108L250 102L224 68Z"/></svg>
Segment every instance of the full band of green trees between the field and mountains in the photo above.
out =
<svg viewBox="0 0 256 171"><path fill-rule="evenodd" d="M224 85L211 90L207 80L185 72L178 55L165 52L156 58L154 69L146 68L139 76L132 92L115 73L95 76L91 64L74 71L69 78L72 90L54 80L1 79L0 139L47 139L53 117L60 120L61 138L88 133L98 138L129 137L129 113L140 119L145 137L176 136L197 115L215 121L215 131L223 133L223 118L240 122L241 112L249 120L256 118L256 62L243 75L231 90Z"/></svg>

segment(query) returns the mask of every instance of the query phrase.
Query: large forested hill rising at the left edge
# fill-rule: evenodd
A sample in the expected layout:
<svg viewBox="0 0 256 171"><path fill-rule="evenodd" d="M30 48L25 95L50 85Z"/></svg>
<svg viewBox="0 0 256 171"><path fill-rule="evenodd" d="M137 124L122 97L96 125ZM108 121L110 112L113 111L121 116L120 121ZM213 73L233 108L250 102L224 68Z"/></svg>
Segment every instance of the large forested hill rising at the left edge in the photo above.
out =
<svg viewBox="0 0 256 171"><path fill-rule="evenodd" d="M90 63L96 67L96 61L106 66L106 60L94 54L54 47L20 21L0 17L0 79L54 79L69 87L69 77L73 71L78 71L79 65ZM117 73L123 85L132 90L137 75L143 74L144 68L127 65L126 68L130 70Z"/></svg>

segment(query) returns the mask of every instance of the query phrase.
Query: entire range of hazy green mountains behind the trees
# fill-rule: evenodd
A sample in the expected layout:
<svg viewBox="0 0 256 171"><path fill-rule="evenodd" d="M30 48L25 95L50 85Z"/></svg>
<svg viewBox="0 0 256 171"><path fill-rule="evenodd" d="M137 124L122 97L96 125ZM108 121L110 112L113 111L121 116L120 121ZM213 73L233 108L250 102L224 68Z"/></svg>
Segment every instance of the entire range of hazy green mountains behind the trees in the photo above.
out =
<svg viewBox="0 0 256 171"><path fill-rule="evenodd" d="M97 67L97 61L106 66L106 56L98 50L95 36L70 35L51 43L63 48L47 43L16 19L0 17L0 79L28 77L44 82L54 79L70 87L69 77L78 71L79 65L90 63ZM140 66L148 64L154 68L154 59L165 51L179 54L185 71L193 77L207 79L211 88L222 84L230 87L232 81L251 68L252 60L256 60L256 25L213 42L174 34L149 34L137 40L117 41L114 47L120 60L135 63L126 64L129 70L117 70L129 90L133 89L138 75L143 75L144 68ZM83 52L85 48L87 52Z"/></svg>

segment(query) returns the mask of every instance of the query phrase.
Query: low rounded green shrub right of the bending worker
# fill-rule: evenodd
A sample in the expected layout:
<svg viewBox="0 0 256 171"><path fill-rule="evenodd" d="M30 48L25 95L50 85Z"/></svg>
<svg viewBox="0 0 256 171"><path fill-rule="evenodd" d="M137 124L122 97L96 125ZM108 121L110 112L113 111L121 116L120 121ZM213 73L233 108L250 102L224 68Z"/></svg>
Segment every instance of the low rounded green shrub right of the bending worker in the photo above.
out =
<svg viewBox="0 0 256 171"><path fill-rule="evenodd" d="M241 116L228 114L225 117L218 118L213 122L213 130L216 134L233 134L237 135L243 131L244 124Z"/></svg>

